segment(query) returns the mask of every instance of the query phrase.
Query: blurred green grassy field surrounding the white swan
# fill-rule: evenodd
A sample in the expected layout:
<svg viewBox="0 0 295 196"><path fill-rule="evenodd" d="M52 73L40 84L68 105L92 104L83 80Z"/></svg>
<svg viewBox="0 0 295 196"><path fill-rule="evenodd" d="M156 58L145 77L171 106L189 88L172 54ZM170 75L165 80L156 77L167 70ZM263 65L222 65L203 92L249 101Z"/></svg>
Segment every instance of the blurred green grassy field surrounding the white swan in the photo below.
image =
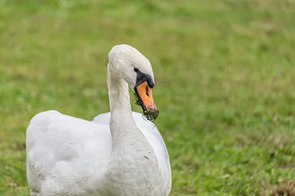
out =
<svg viewBox="0 0 295 196"><path fill-rule="evenodd" d="M29 195L34 114L109 111L118 44L153 66L171 196L295 196L294 0L0 0L0 196Z"/></svg>

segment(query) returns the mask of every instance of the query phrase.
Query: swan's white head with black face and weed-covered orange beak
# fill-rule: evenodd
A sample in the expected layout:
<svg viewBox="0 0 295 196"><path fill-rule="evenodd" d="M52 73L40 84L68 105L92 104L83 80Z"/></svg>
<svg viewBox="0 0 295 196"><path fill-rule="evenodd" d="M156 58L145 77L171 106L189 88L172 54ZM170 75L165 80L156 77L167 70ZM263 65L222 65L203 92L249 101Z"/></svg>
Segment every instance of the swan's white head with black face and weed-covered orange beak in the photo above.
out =
<svg viewBox="0 0 295 196"><path fill-rule="evenodd" d="M155 82L149 60L137 49L125 44L114 46L109 52L109 60L134 91L136 103L143 108L147 119L156 120L159 110L152 98Z"/></svg>

